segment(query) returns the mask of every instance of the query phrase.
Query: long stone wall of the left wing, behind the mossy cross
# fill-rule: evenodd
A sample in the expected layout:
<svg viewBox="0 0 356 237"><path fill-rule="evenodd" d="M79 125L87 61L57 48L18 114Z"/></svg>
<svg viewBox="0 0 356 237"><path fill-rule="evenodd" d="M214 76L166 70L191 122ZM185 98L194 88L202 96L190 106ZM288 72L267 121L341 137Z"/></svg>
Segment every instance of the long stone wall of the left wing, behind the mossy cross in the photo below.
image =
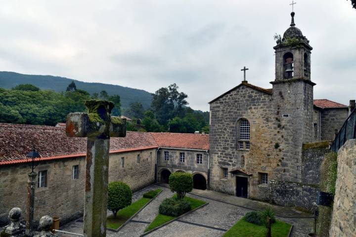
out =
<svg viewBox="0 0 356 237"><path fill-rule="evenodd" d="M123 181L133 190L154 182L156 149L110 154L109 182ZM140 163L137 163L140 154ZM152 155L151 155L152 154ZM121 158L125 157L124 168ZM73 165L79 165L79 178L72 179ZM61 224L83 215L85 157L41 161L35 172L47 170L47 187L35 190L35 219L44 215L61 218ZM7 222L11 208L27 205L28 164L0 166L0 225ZM37 177L38 178L38 177ZM24 215L25 216L25 215Z"/></svg>

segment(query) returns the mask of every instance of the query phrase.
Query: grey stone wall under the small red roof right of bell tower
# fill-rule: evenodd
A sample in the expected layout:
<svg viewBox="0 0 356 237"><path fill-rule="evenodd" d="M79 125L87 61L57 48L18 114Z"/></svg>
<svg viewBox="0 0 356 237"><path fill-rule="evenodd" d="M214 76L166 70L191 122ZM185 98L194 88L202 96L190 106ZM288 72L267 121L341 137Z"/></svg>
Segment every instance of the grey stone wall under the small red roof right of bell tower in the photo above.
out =
<svg viewBox="0 0 356 237"><path fill-rule="evenodd" d="M321 140L332 141L348 118L349 108L328 108L321 111Z"/></svg>

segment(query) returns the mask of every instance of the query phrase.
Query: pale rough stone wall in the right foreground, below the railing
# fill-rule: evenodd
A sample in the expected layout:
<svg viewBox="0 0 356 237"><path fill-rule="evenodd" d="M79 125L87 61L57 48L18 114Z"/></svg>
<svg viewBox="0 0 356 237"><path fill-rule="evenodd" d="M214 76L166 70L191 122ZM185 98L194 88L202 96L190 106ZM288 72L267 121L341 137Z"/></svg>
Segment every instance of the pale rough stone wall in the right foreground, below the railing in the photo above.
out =
<svg viewBox="0 0 356 237"><path fill-rule="evenodd" d="M330 237L356 237L356 139L339 150L337 169Z"/></svg>

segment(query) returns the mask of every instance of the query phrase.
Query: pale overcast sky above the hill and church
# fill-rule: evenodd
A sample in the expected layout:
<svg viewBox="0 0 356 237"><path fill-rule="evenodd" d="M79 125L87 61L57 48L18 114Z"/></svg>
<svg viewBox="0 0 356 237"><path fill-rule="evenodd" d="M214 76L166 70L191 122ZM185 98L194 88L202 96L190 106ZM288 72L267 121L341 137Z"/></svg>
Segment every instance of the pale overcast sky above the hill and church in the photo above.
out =
<svg viewBox="0 0 356 237"><path fill-rule="evenodd" d="M102 2L102 3L99 3ZM0 71L154 92L177 83L193 109L247 80L271 88L274 33L289 0L0 0ZM346 0L297 0L312 50L314 99L356 99L356 10Z"/></svg>

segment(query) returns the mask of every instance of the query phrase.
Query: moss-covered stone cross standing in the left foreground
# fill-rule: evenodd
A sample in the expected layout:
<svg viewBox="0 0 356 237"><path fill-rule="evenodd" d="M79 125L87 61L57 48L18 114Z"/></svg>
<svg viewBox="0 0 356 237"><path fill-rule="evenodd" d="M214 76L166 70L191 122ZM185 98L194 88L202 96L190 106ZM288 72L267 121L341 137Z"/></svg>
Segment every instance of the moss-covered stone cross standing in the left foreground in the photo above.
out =
<svg viewBox="0 0 356 237"><path fill-rule="evenodd" d="M126 119L110 116L112 102L88 100L88 113L70 113L69 137L87 137L84 237L106 236L110 137L126 136Z"/></svg>

